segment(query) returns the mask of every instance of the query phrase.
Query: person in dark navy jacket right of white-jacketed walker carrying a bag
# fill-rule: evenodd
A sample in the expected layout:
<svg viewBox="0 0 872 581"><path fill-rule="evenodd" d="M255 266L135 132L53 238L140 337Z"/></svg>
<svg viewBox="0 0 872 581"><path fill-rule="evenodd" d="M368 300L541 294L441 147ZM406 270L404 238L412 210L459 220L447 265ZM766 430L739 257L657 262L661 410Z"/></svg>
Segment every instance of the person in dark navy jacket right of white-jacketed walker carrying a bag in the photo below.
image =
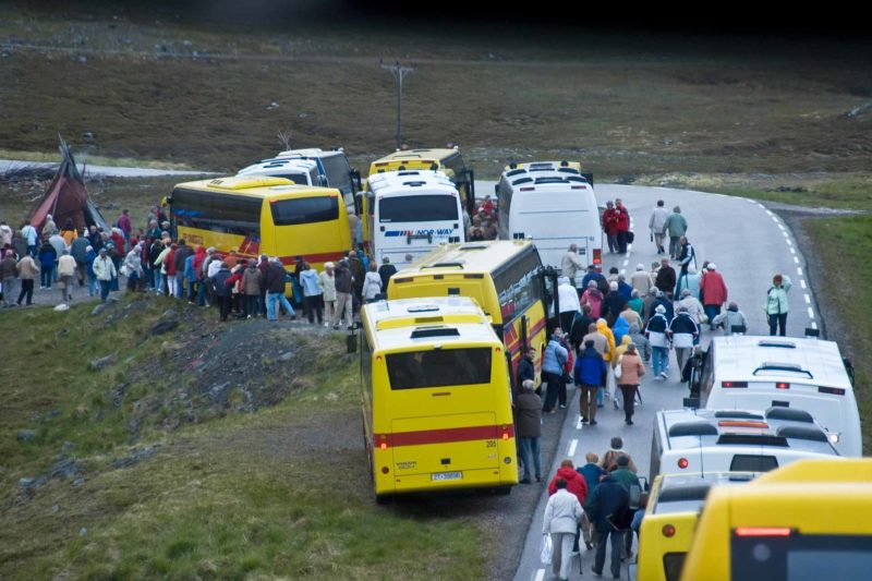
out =
<svg viewBox="0 0 872 581"><path fill-rule="evenodd" d="M620 529L620 517L628 510L630 494L611 474L601 476L600 484L588 496L584 511L593 523L600 537L596 543L596 557L593 572L603 574L606 560L606 545L611 543L611 577L620 578L620 557L623 550L623 531Z"/></svg>

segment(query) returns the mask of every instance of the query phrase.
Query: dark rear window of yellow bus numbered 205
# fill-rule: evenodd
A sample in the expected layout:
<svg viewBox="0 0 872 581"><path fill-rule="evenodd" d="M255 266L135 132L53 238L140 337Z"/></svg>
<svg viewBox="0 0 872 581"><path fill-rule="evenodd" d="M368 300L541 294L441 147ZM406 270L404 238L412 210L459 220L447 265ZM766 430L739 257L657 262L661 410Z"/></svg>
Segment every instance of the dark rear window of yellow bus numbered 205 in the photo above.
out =
<svg viewBox="0 0 872 581"><path fill-rule="evenodd" d="M489 384L491 356L491 348L476 347L390 353L385 361L398 390Z"/></svg>

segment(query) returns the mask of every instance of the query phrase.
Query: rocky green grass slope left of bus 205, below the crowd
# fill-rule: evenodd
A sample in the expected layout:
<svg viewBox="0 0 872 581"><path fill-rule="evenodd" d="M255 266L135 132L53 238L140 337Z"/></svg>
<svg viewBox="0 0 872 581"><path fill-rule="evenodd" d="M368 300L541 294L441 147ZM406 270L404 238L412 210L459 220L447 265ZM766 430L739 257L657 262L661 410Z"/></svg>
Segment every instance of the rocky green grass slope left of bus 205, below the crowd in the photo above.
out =
<svg viewBox="0 0 872 581"><path fill-rule="evenodd" d="M0 577L487 577L507 499L373 501L341 336L93 306L0 317Z"/></svg>

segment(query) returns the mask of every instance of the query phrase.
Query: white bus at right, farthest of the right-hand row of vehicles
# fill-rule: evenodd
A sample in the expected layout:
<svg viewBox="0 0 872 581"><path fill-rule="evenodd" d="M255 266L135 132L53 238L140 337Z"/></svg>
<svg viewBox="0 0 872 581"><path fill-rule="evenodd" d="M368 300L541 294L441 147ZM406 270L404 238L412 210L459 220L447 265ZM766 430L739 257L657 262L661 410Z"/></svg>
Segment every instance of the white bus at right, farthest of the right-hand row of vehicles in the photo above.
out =
<svg viewBox="0 0 872 581"><path fill-rule="evenodd" d="M700 382L708 409L806 410L843 456L860 457L863 440L853 385L833 341L792 337L715 337Z"/></svg>

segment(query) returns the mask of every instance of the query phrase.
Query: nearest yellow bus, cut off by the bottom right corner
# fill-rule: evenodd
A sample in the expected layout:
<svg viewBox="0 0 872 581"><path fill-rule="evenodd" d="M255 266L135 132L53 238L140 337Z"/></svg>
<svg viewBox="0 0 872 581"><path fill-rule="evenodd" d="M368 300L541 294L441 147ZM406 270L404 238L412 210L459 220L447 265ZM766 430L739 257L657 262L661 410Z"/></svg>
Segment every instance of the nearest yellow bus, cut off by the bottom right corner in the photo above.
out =
<svg viewBox="0 0 872 581"><path fill-rule="evenodd" d="M872 459L799 460L713 488L681 579L869 579Z"/></svg>

